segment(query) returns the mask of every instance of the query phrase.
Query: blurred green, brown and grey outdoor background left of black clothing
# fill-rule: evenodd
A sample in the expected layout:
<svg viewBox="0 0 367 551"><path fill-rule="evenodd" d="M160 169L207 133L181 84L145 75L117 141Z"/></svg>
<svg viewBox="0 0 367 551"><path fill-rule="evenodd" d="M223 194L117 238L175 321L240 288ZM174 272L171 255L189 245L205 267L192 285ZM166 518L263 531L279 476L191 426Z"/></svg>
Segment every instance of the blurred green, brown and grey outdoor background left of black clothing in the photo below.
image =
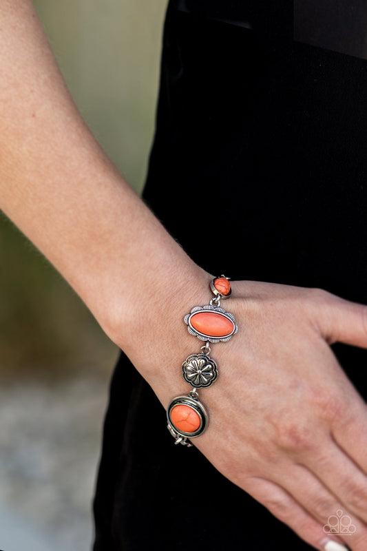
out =
<svg viewBox="0 0 367 551"><path fill-rule="evenodd" d="M166 3L34 0L85 121L138 191L154 132ZM3 215L0 323L0 548L90 549L118 350Z"/></svg>

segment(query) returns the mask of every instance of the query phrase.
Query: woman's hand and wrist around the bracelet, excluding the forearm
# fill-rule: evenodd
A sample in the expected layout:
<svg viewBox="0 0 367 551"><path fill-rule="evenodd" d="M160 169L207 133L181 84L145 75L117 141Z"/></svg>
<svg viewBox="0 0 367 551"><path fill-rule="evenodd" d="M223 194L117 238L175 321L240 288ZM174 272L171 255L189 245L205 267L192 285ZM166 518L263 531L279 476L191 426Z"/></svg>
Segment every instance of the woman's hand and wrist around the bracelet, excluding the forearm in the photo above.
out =
<svg viewBox="0 0 367 551"><path fill-rule="evenodd" d="M203 284L210 277L200 274ZM337 549L325 547L323 526L342 509L355 532L331 540L365 551L367 408L328 345L367 347L366 307L278 284L233 282L232 289L222 306L235 315L239 331L212 346L218 381L200 392L210 424L193 444L315 548ZM185 386L179 368L185 354L201 346L187 333L183 315L206 298L209 292L190 302L182 289L178 301L165 304L157 331L140 326L145 346L129 350L165 407Z"/></svg>

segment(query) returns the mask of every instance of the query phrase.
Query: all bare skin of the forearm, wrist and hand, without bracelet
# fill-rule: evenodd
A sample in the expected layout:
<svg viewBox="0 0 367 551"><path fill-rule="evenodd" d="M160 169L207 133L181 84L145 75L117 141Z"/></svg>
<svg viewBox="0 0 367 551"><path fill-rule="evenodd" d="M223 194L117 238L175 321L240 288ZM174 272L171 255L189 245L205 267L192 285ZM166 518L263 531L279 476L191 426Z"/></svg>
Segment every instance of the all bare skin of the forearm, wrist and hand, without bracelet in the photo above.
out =
<svg viewBox="0 0 367 551"><path fill-rule="evenodd" d="M177 366L193 349L182 318L207 303L211 275L90 134L30 1L0 0L0 39L0 207L167 406L184 390ZM365 551L367 408L329 344L367 348L366 307L325 291L234 282L228 310L240 331L216 346L211 424L195 445L316 549L325 548L328 515L342 508L357 527L345 543Z"/></svg>

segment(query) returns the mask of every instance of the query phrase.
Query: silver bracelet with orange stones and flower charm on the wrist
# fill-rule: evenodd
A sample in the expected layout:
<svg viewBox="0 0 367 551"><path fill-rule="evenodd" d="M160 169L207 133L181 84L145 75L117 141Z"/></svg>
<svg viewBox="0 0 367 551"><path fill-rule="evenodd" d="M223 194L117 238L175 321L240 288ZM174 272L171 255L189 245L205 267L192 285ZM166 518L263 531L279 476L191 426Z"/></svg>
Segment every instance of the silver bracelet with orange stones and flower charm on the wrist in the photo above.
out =
<svg viewBox="0 0 367 551"><path fill-rule="evenodd" d="M185 316L185 324L191 335L205 341L200 353L191 354L182 364L182 377L193 388L187 396L177 396L167 407L167 428L175 444L191 447L188 439L196 438L208 426L208 414L199 402L197 388L208 388L218 378L216 362L209 356L209 343L226 342L238 331L234 316L220 308L220 300L231 296L229 278L221 275L210 282L214 294L209 304L194 306Z"/></svg>

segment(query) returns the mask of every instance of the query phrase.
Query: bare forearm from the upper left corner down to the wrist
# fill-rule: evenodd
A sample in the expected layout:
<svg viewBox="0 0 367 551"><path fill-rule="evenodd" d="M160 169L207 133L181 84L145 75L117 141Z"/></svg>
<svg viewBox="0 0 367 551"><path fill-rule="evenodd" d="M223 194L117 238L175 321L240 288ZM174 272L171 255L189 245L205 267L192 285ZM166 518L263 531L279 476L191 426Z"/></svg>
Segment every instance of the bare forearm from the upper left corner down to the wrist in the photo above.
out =
<svg viewBox="0 0 367 551"><path fill-rule="evenodd" d="M32 3L2 0L0 17L0 207L124 346L137 303L201 271L87 129Z"/></svg>

